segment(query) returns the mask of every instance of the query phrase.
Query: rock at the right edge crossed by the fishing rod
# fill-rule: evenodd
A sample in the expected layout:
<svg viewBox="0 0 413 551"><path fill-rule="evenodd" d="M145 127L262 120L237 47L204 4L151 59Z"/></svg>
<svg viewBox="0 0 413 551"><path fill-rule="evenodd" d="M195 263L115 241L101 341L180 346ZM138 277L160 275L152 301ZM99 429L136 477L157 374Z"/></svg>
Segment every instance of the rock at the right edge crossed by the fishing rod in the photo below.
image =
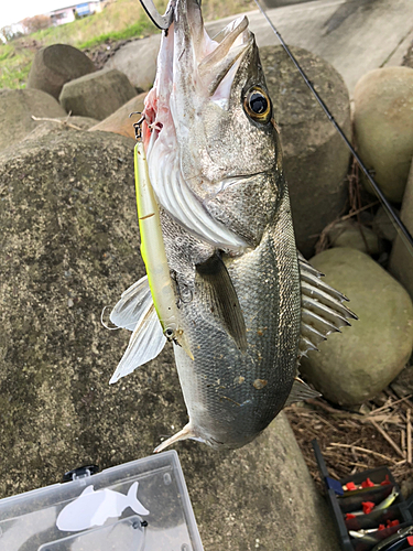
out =
<svg viewBox="0 0 413 551"><path fill-rule="evenodd" d="M413 159L400 216L410 234L413 235ZM394 240L390 255L389 271L405 287L413 300L413 253L409 251L399 236Z"/></svg>

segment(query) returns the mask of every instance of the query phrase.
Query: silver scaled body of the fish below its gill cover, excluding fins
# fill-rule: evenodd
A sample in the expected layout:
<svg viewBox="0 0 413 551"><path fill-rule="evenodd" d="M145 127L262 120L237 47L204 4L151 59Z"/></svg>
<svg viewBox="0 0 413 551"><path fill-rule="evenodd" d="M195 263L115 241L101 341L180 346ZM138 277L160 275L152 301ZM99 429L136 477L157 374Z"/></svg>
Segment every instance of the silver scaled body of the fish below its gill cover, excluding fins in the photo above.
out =
<svg viewBox="0 0 413 551"><path fill-rule="evenodd" d="M195 359L174 347L189 424L213 446L240 447L281 410L296 375L301 296L286 188L260 245L241 257L225 258L246 321L244 354L210 305L200 301L195 270L187 264L188 256L180 255L185 250L182 230L180 250L174 247L176 229L164 216L170 267L177 289L189 289L186 294L192 296L181 301L181 314ZM188 240L193 246L194 238Z"/></svg>

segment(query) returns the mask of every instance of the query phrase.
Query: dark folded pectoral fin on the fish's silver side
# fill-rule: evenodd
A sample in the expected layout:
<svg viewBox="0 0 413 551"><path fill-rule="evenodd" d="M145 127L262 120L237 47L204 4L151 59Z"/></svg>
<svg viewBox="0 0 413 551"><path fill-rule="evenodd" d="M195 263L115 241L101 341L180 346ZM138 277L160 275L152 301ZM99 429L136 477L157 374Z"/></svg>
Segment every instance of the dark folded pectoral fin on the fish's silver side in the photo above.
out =
<svg viewBox="0 0 413 551"><path fill-rule="evenodd" d="M237 291L222 259L215 255L196 266L200 301L221 323L238 348L247 350L247 331Z"/></svg>

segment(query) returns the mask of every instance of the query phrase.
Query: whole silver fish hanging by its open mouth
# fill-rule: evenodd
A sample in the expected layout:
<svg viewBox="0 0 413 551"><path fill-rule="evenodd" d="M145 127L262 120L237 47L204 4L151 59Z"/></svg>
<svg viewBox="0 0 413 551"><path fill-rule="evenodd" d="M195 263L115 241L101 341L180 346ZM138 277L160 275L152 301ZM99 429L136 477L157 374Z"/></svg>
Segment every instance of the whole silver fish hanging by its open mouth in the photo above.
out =
<svg viewBox="0 0 413 551"><path fill-rule="evenodd" d="M176 322L191 350L173 345L189 420L155 452L185 439L238 449L283 407L320 396L300 378L300 359L356 315L296 249L248 18L210 39L200 2L174 0L170 9L142 141ZM116 326L132 331L111 383L166 343L148 276L111 311Z"/></svg>

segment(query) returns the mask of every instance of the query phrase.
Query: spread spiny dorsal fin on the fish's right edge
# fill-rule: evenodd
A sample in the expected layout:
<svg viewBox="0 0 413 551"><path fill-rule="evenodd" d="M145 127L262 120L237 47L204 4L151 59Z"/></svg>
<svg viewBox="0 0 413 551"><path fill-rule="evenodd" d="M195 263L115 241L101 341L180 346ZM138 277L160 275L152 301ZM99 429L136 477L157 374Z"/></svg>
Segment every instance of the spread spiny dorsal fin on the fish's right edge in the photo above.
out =
<svg viewBox="0 0 413 551"><path fill-rule="evenodd" d="M323 281L323 273L298 255L301 279L301 339L298 359L340 327L350 325L348 320L357 315L344 302L348 299Z"/></svg>

